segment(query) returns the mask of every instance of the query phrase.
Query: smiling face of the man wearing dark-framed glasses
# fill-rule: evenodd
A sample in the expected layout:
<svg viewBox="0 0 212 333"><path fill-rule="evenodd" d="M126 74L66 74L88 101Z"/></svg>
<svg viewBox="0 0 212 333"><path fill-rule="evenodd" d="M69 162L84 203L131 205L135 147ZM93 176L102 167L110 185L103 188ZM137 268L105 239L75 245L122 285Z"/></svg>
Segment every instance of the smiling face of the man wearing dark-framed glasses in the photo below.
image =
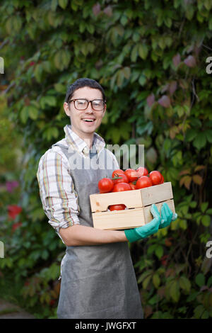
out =
<svg viewBox="0 0 212 333"><path fill-rule="evenodd" d="M72 99L83 98L88 101L94 99L102 99L102 92L99 89L93 89L89 86L84 86L74 91ZM88 108L83 111L79 111L75 108L73 101L71 103L64 103L64 111L66 115L69 115L71 119L71 130L83 138L89 137L100 126L102 118L105 115L106 105L102 111L93 110L91 103L88 104ZM85 119L93 119L93 122L86 122Z"/></svg>

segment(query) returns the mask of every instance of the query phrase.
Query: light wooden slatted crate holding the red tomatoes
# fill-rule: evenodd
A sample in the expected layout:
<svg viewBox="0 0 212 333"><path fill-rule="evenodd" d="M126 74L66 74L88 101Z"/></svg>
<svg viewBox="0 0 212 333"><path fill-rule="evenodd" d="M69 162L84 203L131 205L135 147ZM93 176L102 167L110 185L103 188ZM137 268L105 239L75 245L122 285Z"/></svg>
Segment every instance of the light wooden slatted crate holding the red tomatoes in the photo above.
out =
<svg viewBox="0 0 212 333"><path fill-rule="evenodd" d="M139 190L91 194L90 207L93 226L102 230L141 227L153 219L150 211L151 205L155 203L160 211L164 202L175 213L172 184L170 182ZM124 204L126 209L112 212L108 210L109 205L115 204Z"/></svg>

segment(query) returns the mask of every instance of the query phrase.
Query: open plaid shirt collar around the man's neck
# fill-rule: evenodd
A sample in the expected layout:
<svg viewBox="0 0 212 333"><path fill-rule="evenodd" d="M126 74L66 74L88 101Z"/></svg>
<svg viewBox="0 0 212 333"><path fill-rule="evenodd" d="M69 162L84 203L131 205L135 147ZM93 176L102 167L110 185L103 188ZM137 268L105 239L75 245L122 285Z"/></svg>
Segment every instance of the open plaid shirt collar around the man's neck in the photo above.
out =
<svg viewBox="0 0 212 333"><path fill-rule="evenodd" d="M88 145L83 139L81 139L81 137L76 134L76 132L71 130L71 125L65 125L64 132L66 134L67 144L71 145L74 150L83 152L83 154L85 154L85 152L89 152ZM105 147L105 140L96 132L94 132L92 149L95 148L99 154L103 147Z"/></svg>

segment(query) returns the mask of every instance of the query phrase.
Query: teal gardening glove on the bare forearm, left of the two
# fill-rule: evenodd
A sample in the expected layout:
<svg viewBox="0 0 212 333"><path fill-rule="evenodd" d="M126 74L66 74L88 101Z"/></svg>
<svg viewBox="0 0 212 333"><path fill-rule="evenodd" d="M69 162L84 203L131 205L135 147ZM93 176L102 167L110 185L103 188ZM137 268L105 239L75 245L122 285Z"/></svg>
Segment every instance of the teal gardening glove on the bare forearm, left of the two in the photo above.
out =
<svg viewBox="0 0 212 333"><path fill-rule="evenodd" d="M151 213L153 215L153 220L151 220L151 222L143 225L142 227L124 230L126 238L129 240L129 242L135 242L139 239L151 236L155 232L158 232L161 218L160 213L158 212L158 208L154 203L151 205Z"/></svg>

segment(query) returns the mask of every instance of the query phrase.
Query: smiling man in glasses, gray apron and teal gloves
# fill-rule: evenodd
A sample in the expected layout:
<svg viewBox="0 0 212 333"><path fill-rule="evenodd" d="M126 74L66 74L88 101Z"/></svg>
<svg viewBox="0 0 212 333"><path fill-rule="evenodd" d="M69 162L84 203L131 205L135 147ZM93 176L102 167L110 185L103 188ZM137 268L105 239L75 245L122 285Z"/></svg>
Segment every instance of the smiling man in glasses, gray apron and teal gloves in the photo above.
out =
<svg viewBox="0 0 212 333"><path fill-rule="evenodd" d="M142 318L141 298L128 241L153 235L173 220L163 206L155 205L153 220L131 230L93 227L89 195L98 181L119 169L114 154L95 130L106 112L105 92L93 79L76 80L66 93L64 111L71 125L66 137L45 152L37 170L40 197L49 224L66 244L61 267L58 318ZM105 158L102 158L105 157ZM85 168L94 161L98 169ZM111 169L107 169L106 161ZM102 165L101 165L102 164ZM82 166L82 167L81 167Z"/></svg>

